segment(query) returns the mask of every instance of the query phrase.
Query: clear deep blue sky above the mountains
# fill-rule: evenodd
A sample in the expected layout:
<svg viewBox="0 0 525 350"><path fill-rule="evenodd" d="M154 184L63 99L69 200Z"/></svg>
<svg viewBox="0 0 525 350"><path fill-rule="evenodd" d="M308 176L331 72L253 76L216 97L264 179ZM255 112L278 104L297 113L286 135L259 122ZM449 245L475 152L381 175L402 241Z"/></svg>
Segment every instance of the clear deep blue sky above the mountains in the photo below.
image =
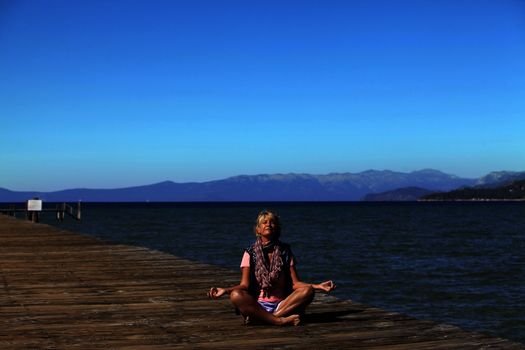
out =
<svg viewBox="0 0 525 350"><path fill-rule="evenodd" d="M525 170L525 1L0 1L0 187Z"/></svg>

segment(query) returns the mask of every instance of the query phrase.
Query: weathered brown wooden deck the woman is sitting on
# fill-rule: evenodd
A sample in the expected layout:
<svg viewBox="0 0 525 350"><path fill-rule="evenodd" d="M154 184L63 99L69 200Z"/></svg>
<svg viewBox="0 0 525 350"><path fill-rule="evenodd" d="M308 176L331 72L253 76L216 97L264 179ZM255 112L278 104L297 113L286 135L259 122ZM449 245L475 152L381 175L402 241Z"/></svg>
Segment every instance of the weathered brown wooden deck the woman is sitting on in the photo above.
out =
<svg viewBox="0 0 525 350"><path fill-rule="evenodd" d="M238 273L0 215L0 349L525 349L316 296L299 327L244 326L213 285Z"/></svg>

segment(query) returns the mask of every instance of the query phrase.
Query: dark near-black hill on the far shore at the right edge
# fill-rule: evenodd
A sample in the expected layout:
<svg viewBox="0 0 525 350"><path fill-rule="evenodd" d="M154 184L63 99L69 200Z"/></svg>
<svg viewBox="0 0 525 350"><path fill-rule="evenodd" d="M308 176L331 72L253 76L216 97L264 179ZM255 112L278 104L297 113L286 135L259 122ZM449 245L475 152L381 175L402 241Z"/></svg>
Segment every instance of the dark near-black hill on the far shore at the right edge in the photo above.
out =
<svg viewBox="0 0 525 350"><path fill-rule="evenodd" d="M423 196L422 200L525 200L525 180L500 187L468 187Z"/></svg>

